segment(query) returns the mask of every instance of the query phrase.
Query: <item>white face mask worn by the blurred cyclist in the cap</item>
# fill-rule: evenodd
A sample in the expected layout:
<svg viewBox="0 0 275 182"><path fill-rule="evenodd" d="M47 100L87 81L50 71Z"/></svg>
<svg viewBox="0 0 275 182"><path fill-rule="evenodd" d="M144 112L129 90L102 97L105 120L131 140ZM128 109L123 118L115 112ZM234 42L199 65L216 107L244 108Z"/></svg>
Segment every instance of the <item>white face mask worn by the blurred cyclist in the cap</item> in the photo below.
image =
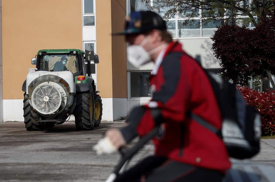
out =
<svg viewBox="0 0 275 182"><path fill-rule="evenodd" d="M146 44L147 40L148 38L145 37L145 39L142 40L139 45L127 46L127 59L134 67L139 67L150 62L150 55L154 54L155 52L163 48L163 46L165 46L165 44L163 44L149 52L146 52L142 46Z"/></svg>

